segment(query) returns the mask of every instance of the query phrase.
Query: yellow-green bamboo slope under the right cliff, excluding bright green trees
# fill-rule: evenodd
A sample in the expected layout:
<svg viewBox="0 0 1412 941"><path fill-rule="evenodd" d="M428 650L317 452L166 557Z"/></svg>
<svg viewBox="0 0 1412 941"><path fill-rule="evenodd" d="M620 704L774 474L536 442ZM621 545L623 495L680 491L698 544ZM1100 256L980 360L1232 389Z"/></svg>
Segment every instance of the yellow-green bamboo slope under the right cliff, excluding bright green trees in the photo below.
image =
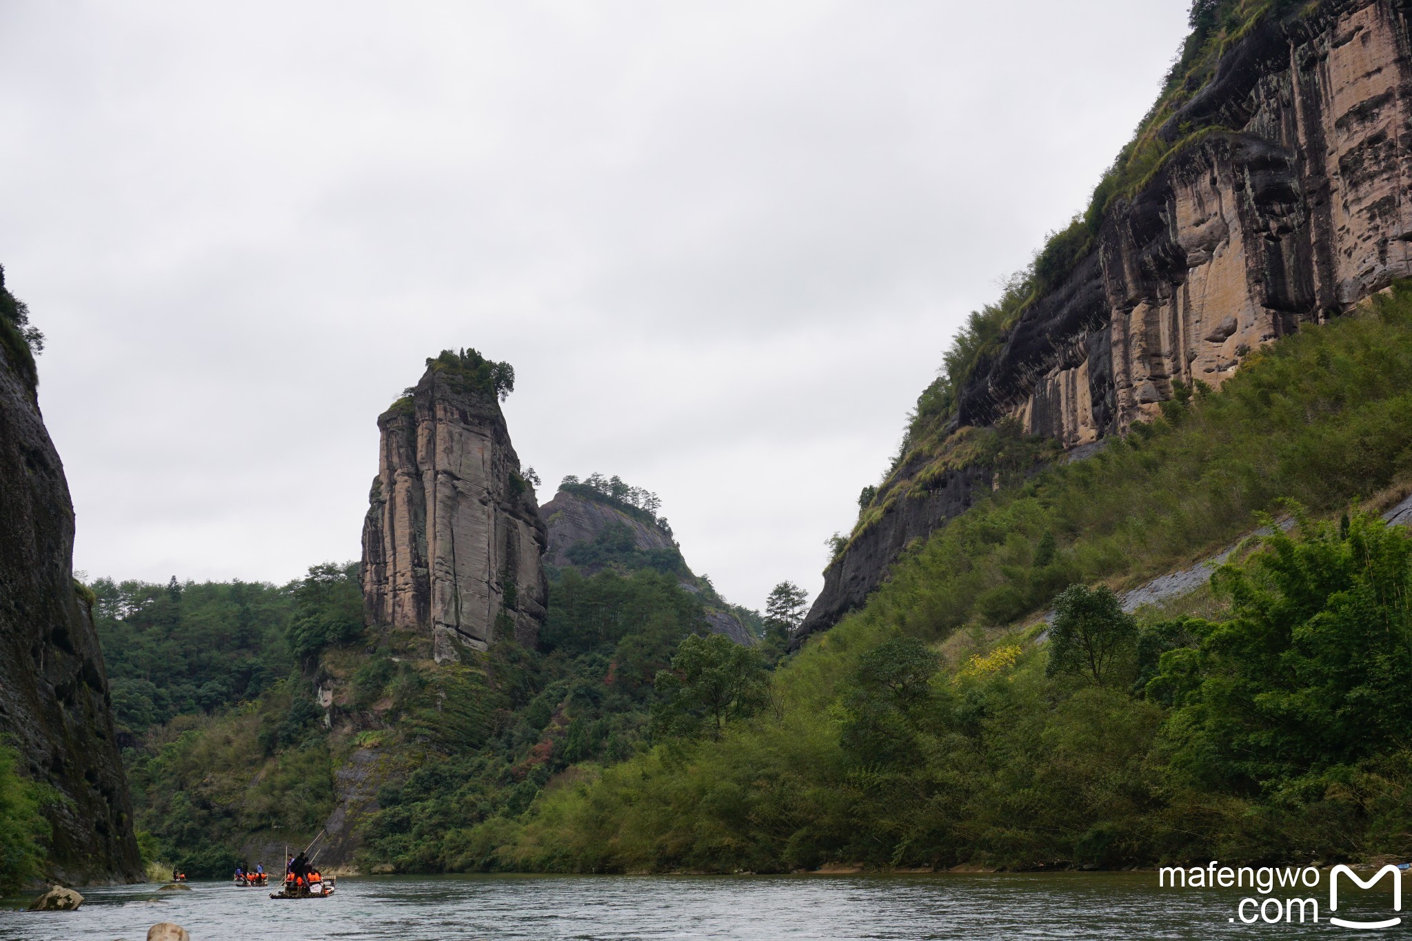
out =
<svg viewBox="0 0 1412 941"><path fill-rule="evenodd" d="M1045 646L1024 628L1070 583L1171 570L1250 532L1285 498L1329 514L1406 481L1409 415L1412 288L1401 284L1250 357L1220 392L1172 403L1107 451L936 530L864 609L779 669L782 708L768 717L719 742L580 766L525 815L463 839L486 848L489 868L599 872L1412 851L1402 824L1370 822L1377 807L1412 804L1405 755L1299 797L1192 789L1162 749L1161 703L1049 677ZM860 660L899 638L949 662L932 680L946 718L884 760L885 736L860 751L846 731Z"/></svg>

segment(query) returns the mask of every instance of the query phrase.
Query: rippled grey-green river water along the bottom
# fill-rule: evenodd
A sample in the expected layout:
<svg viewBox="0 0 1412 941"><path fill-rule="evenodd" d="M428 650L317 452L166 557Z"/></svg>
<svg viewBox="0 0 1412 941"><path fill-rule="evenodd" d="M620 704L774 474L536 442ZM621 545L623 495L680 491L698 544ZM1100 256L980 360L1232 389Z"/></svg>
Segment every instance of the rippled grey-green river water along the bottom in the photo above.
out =
<svg viewBox="0 0 1412 941"><path fill-rule="evenodd" d="M1327 875L1327 873L1326 873ZM1384 882L1388 882L1384 879ZM834 876L381 876L343 879L330 899L192 883L85 892L79 911L0 910L0 938L143 941L175 921L195 941L398 938L1211 938L1361 937L1327 924L1231 921L1247 892L1159 889L1156 873ZM1356 893L1336 914L1391 914L1391 893ZM1279 890L1276 890L1276 897ZM1278 904L1278 903L1276 903ZM1274 909L1267 907L1267 914ZM1254 914L1245 909L1247 917ZM1405 934L1404 924L1381 934ZM1377 937L1377 935L1374 935Z"/></svg>

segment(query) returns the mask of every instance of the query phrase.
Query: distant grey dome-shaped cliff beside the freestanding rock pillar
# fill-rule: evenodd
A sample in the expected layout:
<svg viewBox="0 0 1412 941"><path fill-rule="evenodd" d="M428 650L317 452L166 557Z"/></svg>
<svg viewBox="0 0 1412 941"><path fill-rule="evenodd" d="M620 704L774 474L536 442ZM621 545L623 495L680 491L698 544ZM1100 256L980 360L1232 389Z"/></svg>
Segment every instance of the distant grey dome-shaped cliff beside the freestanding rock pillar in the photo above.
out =
<svg viewBox="0 0 1412 941"><path fill-rule="evenodd" d="M614 505L587 488L559 490L539 508L546 530L545 563L593 574L606 567L624 570L655 567L675 574L692 594L703 595L706 621L716 633L736 643L754 645L758 638L729 609L714 588L686 566L671 533L650 514Z"/></svg>

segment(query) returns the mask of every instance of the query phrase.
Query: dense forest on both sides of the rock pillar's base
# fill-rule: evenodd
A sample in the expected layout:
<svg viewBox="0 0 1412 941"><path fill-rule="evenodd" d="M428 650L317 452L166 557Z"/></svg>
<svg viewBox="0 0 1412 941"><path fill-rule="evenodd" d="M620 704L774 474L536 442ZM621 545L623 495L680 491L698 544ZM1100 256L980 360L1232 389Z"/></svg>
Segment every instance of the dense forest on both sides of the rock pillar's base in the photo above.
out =
<svg viewBox="0 0 1412 941"><path fill-rule="evenodd" d="M278 587L93 581L147 858L220 876L244 848L308 839L335 806L336 766L374 746L394 767L364 821L366 868L489 865L483 834L551 779L648 746L658 673L724 604L706 581L688 590L675 549L620 536L609 528L551 571L535 648L504 639L470 666L435 666L422 639L366 629L356 564ZM319 683L342 691L332 711ZM360 731L335 734L326 712Z"/></svg>

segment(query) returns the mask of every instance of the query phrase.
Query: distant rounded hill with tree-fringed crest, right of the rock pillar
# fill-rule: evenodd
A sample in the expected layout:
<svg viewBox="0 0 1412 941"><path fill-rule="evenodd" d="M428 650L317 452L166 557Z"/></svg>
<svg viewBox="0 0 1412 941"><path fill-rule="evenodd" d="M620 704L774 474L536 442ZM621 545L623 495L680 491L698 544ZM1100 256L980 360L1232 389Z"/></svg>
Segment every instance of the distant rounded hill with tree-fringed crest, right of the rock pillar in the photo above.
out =
<svg viewBox="0 0 1412 941"><path fill-rule="evenodd" d="M760 615L729 604L709 578L690 570L657 509L655 494L628 487L616 475L593 474L582 482L566 477L554 499L539 508L549 533L549 577L563 569L586 576L607 569L623 574L651 569L675 576L683 590L700 597L713 632L736 643L758 643Z"/></svg>

